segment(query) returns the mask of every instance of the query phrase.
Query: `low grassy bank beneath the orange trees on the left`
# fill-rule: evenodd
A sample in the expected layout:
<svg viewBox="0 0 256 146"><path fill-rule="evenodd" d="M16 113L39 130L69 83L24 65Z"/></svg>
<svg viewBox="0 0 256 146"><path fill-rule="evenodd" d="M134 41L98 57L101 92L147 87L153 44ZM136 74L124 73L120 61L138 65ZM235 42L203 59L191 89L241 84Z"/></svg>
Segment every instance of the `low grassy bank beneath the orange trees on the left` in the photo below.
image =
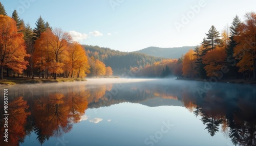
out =
<svg viewBox="0 0 256 146"><path fill-rule="evenodd" d="M58 83L58 82L75 82L75 81L87 81L82 78L57 78L56 80L53 78L49 79L31 79L28 77L24 78L13 78L13 77L5 77L4 80L0 80L0 85L15 85L15 84L34 84L34 83Z"/></svg>

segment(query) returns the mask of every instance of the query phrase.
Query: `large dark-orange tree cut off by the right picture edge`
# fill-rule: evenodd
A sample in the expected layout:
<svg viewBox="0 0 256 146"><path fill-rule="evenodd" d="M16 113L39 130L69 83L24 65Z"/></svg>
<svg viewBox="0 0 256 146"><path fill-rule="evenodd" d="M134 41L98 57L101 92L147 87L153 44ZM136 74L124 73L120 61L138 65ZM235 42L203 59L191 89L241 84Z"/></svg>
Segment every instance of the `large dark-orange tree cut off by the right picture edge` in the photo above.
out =
<svg viewBox="0 0 256 146"><path fill-rule="evenodd" d="M253 71L253 79L256 80L256 14L245 14L245 21L238 28L240 35L234 36L237 46L234 47L234 56L240 60L237 66L239 72Z"/></svg>

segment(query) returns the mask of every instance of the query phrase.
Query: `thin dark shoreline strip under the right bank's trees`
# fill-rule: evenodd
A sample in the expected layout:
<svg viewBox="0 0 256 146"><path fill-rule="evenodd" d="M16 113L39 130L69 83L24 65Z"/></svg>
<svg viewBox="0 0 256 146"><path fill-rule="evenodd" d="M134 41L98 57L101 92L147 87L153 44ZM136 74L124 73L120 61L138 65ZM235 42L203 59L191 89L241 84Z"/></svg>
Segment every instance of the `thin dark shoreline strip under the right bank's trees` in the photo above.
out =
<svg viewBox="0 0 256 146"><path fill-rule="evenodd" d="M186 81L201 81L201 82L209 82L209 80L205 79L200 79L200 78L179 78L176 80L186 80ZM217 82L220 83L231 83L231 84L250 84L250 85L256 85L256 81L251 79L251 80L244 80L244 79L222 79L218 80Z"/></svg>

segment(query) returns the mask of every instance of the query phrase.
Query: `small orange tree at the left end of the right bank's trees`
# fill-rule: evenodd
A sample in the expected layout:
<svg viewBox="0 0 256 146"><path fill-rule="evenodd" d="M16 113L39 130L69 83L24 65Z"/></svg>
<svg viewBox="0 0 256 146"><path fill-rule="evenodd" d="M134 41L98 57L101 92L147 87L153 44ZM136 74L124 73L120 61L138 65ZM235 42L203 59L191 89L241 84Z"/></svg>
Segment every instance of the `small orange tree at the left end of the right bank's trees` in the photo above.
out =
<svg viewBox="0 0 256 146"><path fill-rule="evenodd" d="M184 56L183 63L182 63L182 71L183 76L193 77L196 73L196 56L194 55L195 52L190 49Z"/></svg>

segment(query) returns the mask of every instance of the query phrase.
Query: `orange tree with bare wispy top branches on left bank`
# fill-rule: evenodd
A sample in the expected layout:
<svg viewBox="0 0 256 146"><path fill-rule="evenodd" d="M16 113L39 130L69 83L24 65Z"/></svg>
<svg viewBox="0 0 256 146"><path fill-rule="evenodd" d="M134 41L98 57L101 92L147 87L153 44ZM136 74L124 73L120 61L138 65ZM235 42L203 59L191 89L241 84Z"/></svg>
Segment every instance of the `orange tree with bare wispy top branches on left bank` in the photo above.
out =
<svg viewBox="0 0 256 146"><path fill-rule="evenodd" d="M70 41L71 36L61 29L54 31L48 29L41 33L40 38L35 41L35 63L41 70L47 69L54 73L54 79L56 79L57 74L64 72L63 66L67 61Z"/></svg>

